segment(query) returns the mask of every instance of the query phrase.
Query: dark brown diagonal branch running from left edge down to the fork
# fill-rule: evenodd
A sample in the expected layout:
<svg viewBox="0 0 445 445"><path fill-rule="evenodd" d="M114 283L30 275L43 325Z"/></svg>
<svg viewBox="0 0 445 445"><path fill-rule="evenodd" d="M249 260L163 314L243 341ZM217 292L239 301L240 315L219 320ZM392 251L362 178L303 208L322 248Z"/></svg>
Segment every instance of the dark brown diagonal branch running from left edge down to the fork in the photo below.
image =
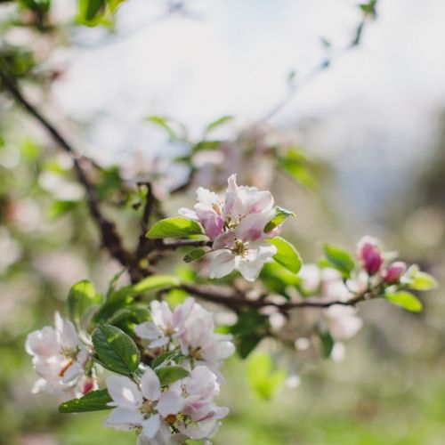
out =
<svg viewBox="0 0 445 445"><path fill-rule="evenodd" d="M0 79L2 80L4 88L12 95L14 100L19 103L30 116L34 117L36 121L44 127L46 132L50 134L53 141L56 142L56 144L72 158L77 179L85 188L86 200L90 214L93 216L93 220L101 233L102 246L109 251L109 255L116 258L119 263L127 266L129 263L129 254L125 250L122 240L117 234L116 225L107 220L101 213L96 192L85 174L84 164L88 163L90 166L93 166L93 161L79 155L77 150L73 149L71 144L61 135L59 130L57 130L57 128L51 124L51 122L44 117L44 115L38 109L36 109L34 105L28 102L28 100L20 92L19 86L16 85L16 83L9 76L7 69L4 68L3 64L0 64Z"/></svg>

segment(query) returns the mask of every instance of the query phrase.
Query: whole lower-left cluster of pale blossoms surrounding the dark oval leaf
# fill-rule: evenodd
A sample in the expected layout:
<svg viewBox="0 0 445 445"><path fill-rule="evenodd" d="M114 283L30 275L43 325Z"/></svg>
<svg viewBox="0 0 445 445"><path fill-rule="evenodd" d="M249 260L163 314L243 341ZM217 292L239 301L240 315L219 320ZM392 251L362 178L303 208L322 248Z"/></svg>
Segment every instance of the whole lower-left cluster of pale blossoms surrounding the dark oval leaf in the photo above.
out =
<svg viewBox="0 0 445 445"><path fill-rule="evenodd" d="M151 367L140 364L132 376L112 374L106 387L112 401L105 425L135 431L139 445L208 440L228 409L214 403L222 380L219 367L235 350L230 336L214 333L213 315L193 298L172 311L166 302L150 303L150 321L134 328L147 341L142 353ZM93 344L94 346L94 344ZM36 392L80 397L97 387L94 353L80 341L75 325L55 316L55 328L28 335L26 350L40 376ZM166 360L159 360L166 357ZM155 366L158 358L159 363ZM99 362L101 363L101 362ZM180 372L161 382L157 372Z"/></svg>

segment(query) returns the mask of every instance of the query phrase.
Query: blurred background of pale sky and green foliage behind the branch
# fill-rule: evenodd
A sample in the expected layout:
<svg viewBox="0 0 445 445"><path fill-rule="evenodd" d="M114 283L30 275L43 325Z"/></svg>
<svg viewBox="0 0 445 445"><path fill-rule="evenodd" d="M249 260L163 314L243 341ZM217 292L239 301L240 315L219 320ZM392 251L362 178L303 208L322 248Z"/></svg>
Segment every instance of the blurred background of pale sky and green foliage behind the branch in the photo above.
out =
<svg viewBox="0 0 445 445"><path fill-rule="evenodd" d="M103 197L120 198L114 165L129 182L156 170L161 195L181 185L187 168L169 160L231 115L219 137L290 139L308 159L299 184L267 159L253 174L295 212L287 237L305 262L324 241L353 249L370 233L445 285L441 0L380 0L353 45L363 10L347 0L128 0L111 28L76 23L76 8L53 0L59 28L48 36L15 26L28 12L0 2L0 58L79 150L109 166ZM0 443L134 443L102 428L103 413L59 415L52 397L31 394L28 332L63 311L77 279L104 291L118 266L96 248L69 158L0 93ZM187 136L172 140L153 115ZM211 168L196 182L214 179ZM166 213L192 199L190 189L168 200ZM137 220L108 212L131 242ZM246 362L228 360L231 416L214 443L444 443L445 303L440 289L422 299L421 314L361 306L344 359L306 362L269 401L247 384Z"/></svg>

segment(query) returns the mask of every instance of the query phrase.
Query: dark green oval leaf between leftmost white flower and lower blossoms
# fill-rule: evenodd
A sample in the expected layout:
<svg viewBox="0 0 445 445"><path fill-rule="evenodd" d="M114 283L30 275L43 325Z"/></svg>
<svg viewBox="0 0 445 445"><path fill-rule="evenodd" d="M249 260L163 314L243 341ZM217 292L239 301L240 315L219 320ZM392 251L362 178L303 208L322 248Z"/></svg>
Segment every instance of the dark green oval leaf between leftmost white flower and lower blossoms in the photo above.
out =
<svg viewBox="0 0 445 445"><path fill-rule="evenodd" d="M130 336L115 326L103 325L93 331L93 345L101 364L125 376L138 368L141 356Z"/></svg>

